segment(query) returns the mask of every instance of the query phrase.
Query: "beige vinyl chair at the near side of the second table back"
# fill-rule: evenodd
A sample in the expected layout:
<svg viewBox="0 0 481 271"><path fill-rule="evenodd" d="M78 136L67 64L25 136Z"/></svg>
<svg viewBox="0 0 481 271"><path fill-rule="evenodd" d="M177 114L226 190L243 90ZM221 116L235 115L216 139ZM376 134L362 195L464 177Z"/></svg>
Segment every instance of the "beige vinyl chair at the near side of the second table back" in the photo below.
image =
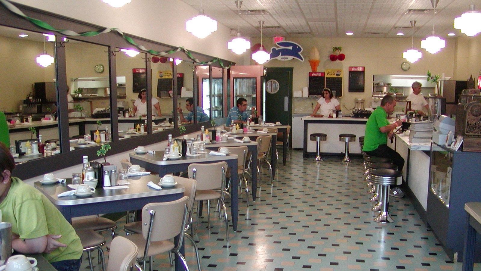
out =
<svg viewBox="0 0 481 271"><path fill-rule="evenodd" d="M208 163L208 164L190 164L188 168L189 178L197 181L197 190L195 200L197 201L197 210L200 209L200 202L207 201L207 223L210 231L210 201L217 200L219 213L221 207L224 209L224 217L226 219L226 240L229 241L229 227L226 204L223 200L225 194L227 162ZM218 188L220 193L215 191ZM196 224L199 223L199 211L197 211ZM196 227L197 228L197 227Z"/></svg>

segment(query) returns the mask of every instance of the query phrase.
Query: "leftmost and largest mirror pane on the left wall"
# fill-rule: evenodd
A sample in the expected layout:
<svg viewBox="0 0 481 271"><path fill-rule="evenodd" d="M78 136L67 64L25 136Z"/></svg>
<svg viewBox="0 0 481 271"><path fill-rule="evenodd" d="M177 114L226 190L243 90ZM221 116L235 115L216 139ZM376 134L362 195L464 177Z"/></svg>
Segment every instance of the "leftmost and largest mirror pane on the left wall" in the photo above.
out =
<svg viewBox="0 0 481 271"><path fill-rule="evenodd" d="M0 26L0 110L16 163L60 153L54 42L53 35Z"/></svg>

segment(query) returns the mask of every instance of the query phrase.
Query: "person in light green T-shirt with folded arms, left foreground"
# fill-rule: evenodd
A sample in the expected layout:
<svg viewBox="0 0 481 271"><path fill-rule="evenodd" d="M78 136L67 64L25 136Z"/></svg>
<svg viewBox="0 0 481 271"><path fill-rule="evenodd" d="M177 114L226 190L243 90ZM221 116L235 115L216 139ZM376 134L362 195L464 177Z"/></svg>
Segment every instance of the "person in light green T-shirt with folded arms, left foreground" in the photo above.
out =
<svg viewBox="0 0 481 271"><path fill-rule="evenodd" d="M12 223L12 248L42 253L59 271L78 271L83 246L74 228L40 191L12 177L13 168L13 157L0 142L0 209L3 221Z"/></svg>

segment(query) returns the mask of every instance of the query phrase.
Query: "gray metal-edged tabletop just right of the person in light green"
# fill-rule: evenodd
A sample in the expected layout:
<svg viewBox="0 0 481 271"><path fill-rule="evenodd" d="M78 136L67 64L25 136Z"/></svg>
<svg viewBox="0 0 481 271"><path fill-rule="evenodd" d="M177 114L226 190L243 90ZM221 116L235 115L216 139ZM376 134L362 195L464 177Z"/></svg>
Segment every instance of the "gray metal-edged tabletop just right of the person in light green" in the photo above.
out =
<svg viewBox="0 0 481 271"><path fill-rule="evenodd" d="M185 187L180 184L177 184L172 188L163 188L162 190L156 190L148 187L147 183L149 181L152 181L155 184L159 183L160 178L157 175L129 177L128 181L130 182L130 184L127 184L128 188L109 190L97 188L95 193L88 197L79 197L76 195L58 197L58 194L71 190L67 186L67 184L71 183L71 180L69 179L67 179L66 183L54 184L42 184L40 181L36 181L34 183L34 186L35 188L40 190L40 192L45 194L53 204L62 206L107 202L166 194L177 194L183 193L185 191Z"/></svg>

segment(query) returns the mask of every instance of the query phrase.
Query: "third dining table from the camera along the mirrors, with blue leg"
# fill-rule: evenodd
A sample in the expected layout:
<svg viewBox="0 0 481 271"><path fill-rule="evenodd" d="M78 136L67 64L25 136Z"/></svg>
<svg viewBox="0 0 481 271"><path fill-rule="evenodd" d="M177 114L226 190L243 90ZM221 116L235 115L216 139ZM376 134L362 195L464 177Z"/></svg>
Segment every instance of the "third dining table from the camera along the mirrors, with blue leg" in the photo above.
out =
<svg viewBox="0 0 481 271"><path fill-rule="evenodd" d="M217 151L220 147L240 147L246 146L251 152L251 192L252 200L255 201L257 195L257 145L258 143L251 140L250 142L236 142L233 139L221 142L212 142L205 145L206 149ZM232 171L233 172L233 171Z"/></svg>

